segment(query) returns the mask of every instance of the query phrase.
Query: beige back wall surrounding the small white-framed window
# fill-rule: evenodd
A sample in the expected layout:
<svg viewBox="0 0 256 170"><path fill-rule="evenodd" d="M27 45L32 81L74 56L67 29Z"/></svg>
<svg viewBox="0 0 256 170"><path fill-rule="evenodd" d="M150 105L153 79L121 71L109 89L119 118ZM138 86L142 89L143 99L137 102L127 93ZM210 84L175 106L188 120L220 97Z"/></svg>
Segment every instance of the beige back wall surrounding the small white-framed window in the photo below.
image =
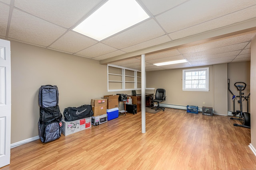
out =
<svg viewBox="0 0 256 170"><path fill-rule="evenodd" d="M206 66L204 66L206 67ZM213 66L209 67L209 92L182 91L182 69L146 72L147 88L164 88L166 101L163 104L178 106L213 107Z"/></svg>

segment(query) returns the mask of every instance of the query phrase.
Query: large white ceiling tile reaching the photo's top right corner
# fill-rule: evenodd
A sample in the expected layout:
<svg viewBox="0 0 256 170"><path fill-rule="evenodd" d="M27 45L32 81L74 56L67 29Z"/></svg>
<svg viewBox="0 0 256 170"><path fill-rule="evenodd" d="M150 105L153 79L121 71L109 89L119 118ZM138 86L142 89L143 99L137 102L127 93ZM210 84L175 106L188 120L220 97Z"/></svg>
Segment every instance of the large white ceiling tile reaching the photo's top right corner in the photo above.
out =
<svg viewBox="0 0 256 170"><path fill-rule="evenodd" d="M235 3L233 0L190 0L177 8L156 16L156 20L168 33L172 33L256 4L254 0L247 0L247 2L239 2L239 0L236 0Z"/></svg>

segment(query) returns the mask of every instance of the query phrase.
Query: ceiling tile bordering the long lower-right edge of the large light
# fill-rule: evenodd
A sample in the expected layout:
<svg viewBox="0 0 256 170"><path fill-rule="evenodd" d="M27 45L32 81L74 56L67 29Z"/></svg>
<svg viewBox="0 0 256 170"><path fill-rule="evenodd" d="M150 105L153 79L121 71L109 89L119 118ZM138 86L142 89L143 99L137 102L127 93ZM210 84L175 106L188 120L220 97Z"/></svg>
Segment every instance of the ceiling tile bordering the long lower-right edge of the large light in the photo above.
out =
<svg viewBox="0 0 256 170"><path fill-rule="evenodd" d="M110 37L103 43L115 47L117 49L123 49L160 37L164 35L164 31L153 19L142 22L130 29L127 29L113 37Z"/></svg>

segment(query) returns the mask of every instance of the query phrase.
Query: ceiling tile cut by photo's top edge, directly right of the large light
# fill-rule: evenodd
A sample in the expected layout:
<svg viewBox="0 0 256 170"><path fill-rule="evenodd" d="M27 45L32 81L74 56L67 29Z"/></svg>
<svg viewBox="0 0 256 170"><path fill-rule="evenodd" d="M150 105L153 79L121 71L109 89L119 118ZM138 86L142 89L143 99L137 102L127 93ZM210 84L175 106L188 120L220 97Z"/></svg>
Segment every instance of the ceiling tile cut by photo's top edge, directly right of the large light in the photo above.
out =
<svg viewBox="0 0 256 170"><path fill-rule="evenodd" d="M175 6L178 6L185 1L187 0L142 0L143 4L146 5L146 7L148 8L148 10L150 10L153 16L156 16L157 14L174 8Z"/></svg>

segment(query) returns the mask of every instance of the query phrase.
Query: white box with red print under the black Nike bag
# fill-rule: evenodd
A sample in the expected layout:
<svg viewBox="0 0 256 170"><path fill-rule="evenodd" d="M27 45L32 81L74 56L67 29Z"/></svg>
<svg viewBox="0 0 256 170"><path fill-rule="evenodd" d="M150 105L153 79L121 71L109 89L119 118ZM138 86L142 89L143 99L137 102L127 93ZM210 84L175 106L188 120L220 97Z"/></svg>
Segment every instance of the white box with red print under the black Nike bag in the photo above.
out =
<svg viewBox="0 0 256 170"><path fill-rule="evenodd" d="M62 134L68 136L70 134L82 131L92 127L92 117L78 119L74 121L62 121Z"/></svg>

